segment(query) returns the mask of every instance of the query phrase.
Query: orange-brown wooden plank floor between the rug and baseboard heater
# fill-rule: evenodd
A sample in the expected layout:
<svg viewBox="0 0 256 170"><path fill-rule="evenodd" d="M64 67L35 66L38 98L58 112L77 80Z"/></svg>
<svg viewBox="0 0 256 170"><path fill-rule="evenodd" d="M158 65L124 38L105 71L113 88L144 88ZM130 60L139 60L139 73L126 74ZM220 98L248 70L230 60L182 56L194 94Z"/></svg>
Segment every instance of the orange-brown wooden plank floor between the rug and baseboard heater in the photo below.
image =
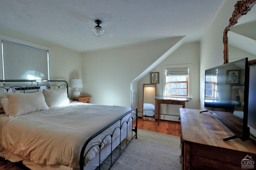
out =
<svg viewBox="0 0 256 170"><path fill-rule="evenodd" d="M134 122L135 124L135 122ZM134 125L135 126L135 125ZM163 133L180 137L181 125L180 122L161 120L159 125L157 121L144 121L138 118L138 129Z"/></svg>

